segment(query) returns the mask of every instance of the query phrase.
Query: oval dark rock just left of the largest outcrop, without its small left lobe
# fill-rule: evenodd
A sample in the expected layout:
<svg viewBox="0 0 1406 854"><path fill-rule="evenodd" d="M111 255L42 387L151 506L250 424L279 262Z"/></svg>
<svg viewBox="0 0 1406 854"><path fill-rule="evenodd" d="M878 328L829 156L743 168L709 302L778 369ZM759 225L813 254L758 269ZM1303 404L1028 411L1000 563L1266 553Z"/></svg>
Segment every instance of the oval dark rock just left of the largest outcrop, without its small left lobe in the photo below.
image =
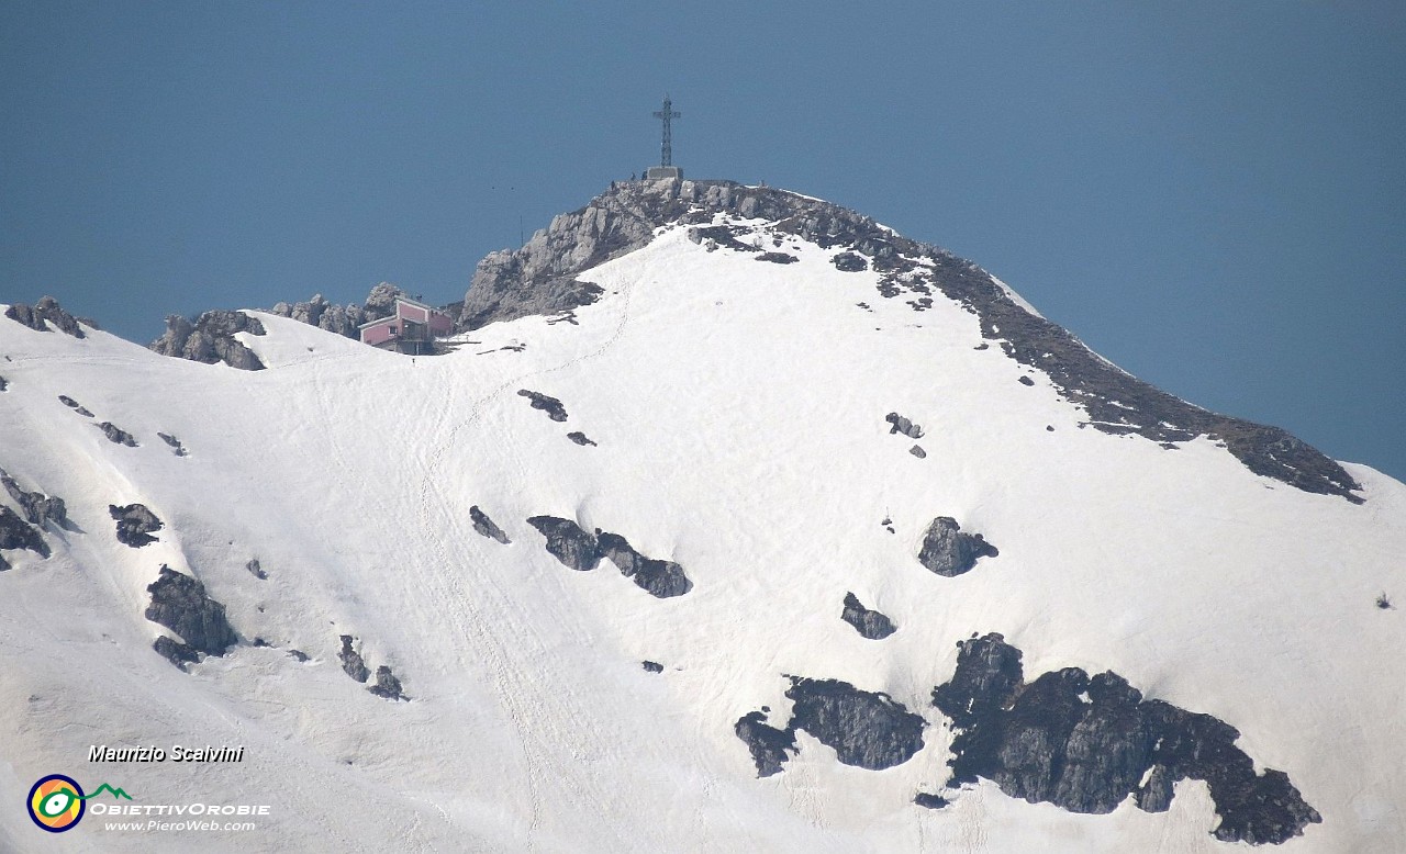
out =
<svg viewBox="0 0 1406 854"><path fill-rule="evenodd" d="M908 761L922 749L922 718L887 694L793 676L786 697L794 701L790 728L804 729L834 747L846 766L879 771Z"/></svg>

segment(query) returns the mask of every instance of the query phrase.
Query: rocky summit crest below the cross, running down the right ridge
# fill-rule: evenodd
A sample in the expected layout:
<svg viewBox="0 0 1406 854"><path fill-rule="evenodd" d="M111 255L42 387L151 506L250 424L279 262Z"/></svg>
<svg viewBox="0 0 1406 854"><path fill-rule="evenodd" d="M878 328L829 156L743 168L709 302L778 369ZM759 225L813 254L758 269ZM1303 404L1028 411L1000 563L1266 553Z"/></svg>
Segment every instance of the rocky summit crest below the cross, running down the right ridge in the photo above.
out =
<svg viewBox="0 0 1406 854"><path fill-rule="evenodd" d="M1306 492L1362 500L1353 494L1361 487L1343 466L1315 448L1277 427L1192 406L1109 365L1067 330L1029 313L976 264L903 237L853 211L770 187L682 180L620 183L581 211L557 216L520 250L485 258L465 295L460 324L477 327L574 308L569 287L579 284L576 275L645 246L659 226L703 226L696 229L697 239L721 244L724 237L733 237L734 226L714 225L718 214L770 221L780 235L872 258L872 268L884 274L879 291L886 298L941 292L976 315L983 336L998 341L1010 358L1046 374L1060 395L1088 412L1098 430L1136 433L1156 442L1211 435L1257 475Z"/></svg>

